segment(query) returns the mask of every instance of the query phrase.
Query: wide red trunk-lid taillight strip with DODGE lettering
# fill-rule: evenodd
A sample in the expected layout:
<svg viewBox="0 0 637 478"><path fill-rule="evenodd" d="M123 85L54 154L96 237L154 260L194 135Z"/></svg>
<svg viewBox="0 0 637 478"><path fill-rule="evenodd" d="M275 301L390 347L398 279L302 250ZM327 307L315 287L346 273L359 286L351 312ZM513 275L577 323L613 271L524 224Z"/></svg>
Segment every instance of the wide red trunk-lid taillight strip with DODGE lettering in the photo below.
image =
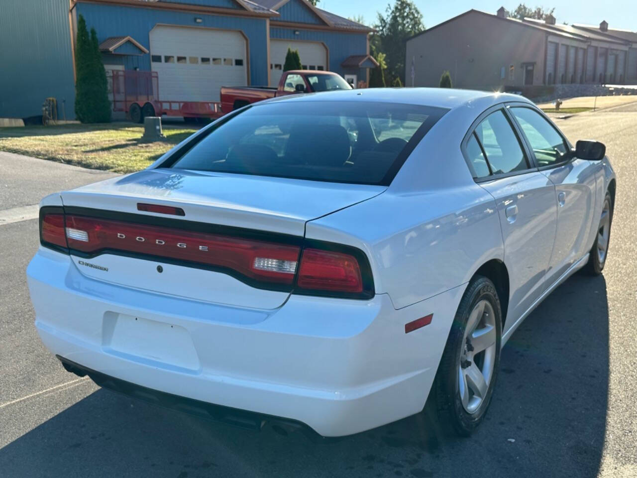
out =
<svg viewBox="0 0 637 478"><path fill-rule="evenodd" d="M301 250L297 245L76 215L66 216L66 235L70 249L89 254L120 250L168 257L290 286Z"/></svg>

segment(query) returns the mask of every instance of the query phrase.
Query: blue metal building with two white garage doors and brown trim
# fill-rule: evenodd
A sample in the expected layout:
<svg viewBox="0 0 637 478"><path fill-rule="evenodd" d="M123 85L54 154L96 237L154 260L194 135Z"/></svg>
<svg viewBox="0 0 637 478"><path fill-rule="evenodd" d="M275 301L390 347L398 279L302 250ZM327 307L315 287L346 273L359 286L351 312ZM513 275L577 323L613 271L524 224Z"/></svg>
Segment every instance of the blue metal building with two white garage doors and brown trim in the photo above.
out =
<svg viewBox="0 0 637 478"><path fill-rule="evenodd" d="M48 97L59 118L75 117L79 15L97 31L107 75L155 71L163 100L218 101L221 85L276 85L287 48L304 68L354 84L375 66L369 27L306 0L6 0L0 117L41 115Z"/></svg>

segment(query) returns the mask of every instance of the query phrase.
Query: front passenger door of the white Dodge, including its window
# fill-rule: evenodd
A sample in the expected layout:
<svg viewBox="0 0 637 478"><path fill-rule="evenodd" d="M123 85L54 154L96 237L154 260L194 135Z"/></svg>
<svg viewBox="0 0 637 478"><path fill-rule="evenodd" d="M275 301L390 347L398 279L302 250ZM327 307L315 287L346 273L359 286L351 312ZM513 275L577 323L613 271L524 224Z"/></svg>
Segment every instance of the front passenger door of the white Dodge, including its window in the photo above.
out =
<svg viewBox="0 0 637 478"><path fill-rule="evenodd" d="M557 230L547 270L549 287L590 249L599 162L574 157L566 138L535 108L513 104L508 110L540 172L555 184Z"/></svg>

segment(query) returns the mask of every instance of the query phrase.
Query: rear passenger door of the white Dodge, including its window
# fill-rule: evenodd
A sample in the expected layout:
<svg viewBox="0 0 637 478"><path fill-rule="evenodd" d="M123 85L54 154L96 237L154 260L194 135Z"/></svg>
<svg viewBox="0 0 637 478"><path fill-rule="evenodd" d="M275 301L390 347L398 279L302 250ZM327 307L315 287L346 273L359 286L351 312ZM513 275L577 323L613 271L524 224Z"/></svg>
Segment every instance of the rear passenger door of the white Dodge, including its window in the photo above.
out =
<svg viewBox="0 0 637 478"><path fill-rule="evenodd" d="M534 168L504 106L487 110L463 141L476 182L496 199L509 274L505 330L545 289L555 238L555 187Z"/></svg>

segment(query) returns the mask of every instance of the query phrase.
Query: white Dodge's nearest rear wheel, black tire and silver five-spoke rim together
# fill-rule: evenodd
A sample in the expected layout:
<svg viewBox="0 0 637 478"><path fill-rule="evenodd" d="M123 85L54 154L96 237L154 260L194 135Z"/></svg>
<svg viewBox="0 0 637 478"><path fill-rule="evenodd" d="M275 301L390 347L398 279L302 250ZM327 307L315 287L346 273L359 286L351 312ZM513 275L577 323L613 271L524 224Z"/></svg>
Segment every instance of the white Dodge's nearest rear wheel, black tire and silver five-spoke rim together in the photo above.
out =
<svg viewBox="0 0 637 478"><path fill-rule="evenodd" d="M500 361L502 312L496 287L476 276L462 296L433 393L441 419L463 436L482 423Z"/></svg>

